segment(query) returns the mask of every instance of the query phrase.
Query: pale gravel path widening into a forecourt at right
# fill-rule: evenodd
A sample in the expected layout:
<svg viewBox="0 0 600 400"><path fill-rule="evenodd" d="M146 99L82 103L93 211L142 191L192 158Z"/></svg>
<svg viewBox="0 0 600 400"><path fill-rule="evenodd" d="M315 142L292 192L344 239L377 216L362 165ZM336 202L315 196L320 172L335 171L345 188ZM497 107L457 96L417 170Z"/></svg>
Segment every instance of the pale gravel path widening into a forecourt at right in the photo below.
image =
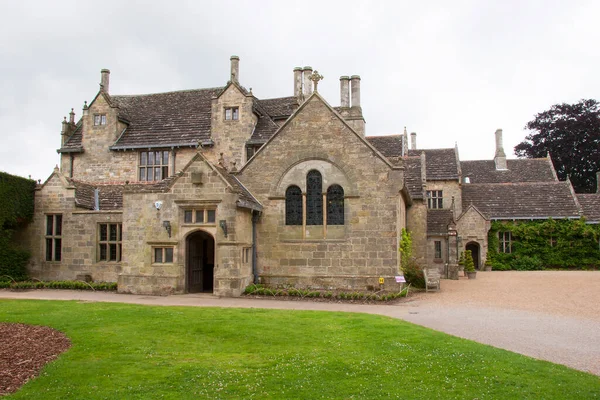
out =
<svg viewBox="0 0 600 400"><path fill-rule="evenodd" d="M0 290L0 298L364 312L403 319L600 376L600 272L479 272L474 281L444 280L441 292L418 294L396 305L70 290Z"/></svg>

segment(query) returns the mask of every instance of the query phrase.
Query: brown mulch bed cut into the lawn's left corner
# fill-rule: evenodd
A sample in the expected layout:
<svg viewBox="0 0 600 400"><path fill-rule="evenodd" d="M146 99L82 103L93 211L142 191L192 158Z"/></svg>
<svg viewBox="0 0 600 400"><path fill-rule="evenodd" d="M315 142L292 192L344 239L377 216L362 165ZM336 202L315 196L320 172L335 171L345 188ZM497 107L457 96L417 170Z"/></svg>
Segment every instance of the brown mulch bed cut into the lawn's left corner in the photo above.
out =
<svg viewBox="0 0 600 400"><path fill-rule="evenodd" d="M16 392L69 347L69 338L47 326L0 323L0 396Z"/></svg>

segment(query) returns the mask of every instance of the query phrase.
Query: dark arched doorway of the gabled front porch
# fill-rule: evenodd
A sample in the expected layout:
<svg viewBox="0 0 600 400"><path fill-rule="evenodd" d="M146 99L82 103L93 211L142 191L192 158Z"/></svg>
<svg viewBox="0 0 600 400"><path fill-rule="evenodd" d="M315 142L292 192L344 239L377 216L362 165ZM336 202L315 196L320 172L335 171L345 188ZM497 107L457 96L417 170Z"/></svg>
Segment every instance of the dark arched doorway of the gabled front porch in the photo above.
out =
<svg viewBox="0 0 600 400"><path fill-rule="evenodd" d="M187 237L186 244L188 293L212 293L215 269L215 240L209 233L197 231Z"/></svg>

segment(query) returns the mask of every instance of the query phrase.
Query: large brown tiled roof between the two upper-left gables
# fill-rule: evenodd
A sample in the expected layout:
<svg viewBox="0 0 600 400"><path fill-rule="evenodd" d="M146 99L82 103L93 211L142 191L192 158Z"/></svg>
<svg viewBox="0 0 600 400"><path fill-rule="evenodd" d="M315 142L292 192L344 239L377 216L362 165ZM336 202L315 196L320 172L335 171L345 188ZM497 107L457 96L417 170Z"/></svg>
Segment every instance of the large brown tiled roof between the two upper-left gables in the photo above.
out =
<svg viewBox="0 0 600 400"><path fill-rule="evenodd" d="M111 96L129 126L113 149L196 146L210 138L212 98L222 88Z"/></svg>

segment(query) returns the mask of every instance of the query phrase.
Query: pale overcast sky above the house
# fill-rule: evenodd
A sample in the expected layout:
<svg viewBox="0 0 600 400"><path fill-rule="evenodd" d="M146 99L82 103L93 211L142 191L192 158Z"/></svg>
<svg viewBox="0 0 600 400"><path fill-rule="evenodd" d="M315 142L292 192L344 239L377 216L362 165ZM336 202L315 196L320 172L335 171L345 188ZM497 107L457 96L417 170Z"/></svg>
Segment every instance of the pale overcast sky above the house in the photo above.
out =
<svg viewBox="0 0 600 400"><path fill-rule="evenodd" d="M371 4L374 3L374 4ZM0 170L45 180L63 116L111 94L223 86L229 57L259 98L291 96L310 65L340 103L360 75L367 135L417 132L420 148L491 159L555 103L599 99L598 1L0 0Z"/></svg>

